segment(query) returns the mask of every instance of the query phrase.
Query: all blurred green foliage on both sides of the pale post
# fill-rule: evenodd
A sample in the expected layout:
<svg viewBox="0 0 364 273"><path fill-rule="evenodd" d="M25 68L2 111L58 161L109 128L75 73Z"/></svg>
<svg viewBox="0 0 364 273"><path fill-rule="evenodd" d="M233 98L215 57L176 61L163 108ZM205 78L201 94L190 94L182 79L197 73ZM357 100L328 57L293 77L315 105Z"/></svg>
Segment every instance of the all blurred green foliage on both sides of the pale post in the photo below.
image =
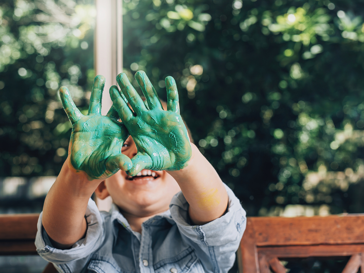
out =
<svg viewBox="0 0 364 273"><path fill-rule="evenodd" d="M91 4L1 4L1 176L58 174L71 126L57 89L87 109ZM163 99L165 77L176 79L195 143L248 215L364 211L364 1L124 0L123 9L124 71L146 71Z"/></svg>

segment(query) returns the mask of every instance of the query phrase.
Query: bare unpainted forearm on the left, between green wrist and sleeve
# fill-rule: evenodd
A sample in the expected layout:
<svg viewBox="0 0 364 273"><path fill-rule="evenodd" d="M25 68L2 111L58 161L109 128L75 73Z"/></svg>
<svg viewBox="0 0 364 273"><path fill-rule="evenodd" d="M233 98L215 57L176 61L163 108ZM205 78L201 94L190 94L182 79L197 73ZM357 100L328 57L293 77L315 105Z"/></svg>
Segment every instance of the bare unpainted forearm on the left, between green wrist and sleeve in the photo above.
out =
<svg viewBox="0 0 364 273"><path fill-rule="evenodd" d="M84 236L88 199L100 182L88 181L84 172L76 173L66 159L43 207L42 224L57 248L66 249Z"/></svg>

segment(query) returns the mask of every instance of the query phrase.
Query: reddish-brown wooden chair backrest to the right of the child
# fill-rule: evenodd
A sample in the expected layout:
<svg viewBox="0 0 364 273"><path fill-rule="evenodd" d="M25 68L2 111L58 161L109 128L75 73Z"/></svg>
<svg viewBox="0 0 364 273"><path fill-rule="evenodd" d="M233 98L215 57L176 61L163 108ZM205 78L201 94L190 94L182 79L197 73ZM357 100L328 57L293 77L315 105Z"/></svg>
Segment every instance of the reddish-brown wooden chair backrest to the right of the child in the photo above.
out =
<svg viewBox="0 0 364 273"><path fill-rule="evenodd" d="M242 273L285 273L280 259L348 256L343 273L364 273L364 214L248 217L238 262Z"/></svg>

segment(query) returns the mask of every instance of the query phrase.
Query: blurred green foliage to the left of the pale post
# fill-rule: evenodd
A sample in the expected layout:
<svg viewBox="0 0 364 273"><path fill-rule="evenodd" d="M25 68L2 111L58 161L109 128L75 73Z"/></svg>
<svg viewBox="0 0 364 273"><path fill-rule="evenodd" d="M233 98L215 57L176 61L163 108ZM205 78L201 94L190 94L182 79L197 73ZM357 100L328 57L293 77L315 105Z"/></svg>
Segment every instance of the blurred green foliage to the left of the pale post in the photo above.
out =
<svg viewBox="0 0 364 273"><path fill-rule="evenodd" d="M59 173L71 124L58 88L88 108L95 15L92 1L1 2L1 176Z"/></svg>

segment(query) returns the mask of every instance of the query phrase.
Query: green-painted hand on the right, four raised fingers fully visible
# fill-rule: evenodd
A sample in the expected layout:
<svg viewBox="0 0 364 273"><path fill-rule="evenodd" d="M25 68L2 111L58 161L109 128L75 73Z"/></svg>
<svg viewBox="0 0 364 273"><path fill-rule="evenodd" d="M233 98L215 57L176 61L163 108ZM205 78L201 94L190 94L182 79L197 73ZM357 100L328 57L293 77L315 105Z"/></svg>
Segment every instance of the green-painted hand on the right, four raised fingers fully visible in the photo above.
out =
<svg viewBox="0 0 364 273"><path fill-rule="evenodd" d="M192 150L186 126L179 114L177 86L172 77L166 78L167 111L164 111L144 71L135 74L146 103L138 95L125 73L116 77L128 107L116 86L110 96L116 111L132 136L138 153L131 159L133 167L127 172L136 175L142 169L180 170L187 165Z"/></svg>

